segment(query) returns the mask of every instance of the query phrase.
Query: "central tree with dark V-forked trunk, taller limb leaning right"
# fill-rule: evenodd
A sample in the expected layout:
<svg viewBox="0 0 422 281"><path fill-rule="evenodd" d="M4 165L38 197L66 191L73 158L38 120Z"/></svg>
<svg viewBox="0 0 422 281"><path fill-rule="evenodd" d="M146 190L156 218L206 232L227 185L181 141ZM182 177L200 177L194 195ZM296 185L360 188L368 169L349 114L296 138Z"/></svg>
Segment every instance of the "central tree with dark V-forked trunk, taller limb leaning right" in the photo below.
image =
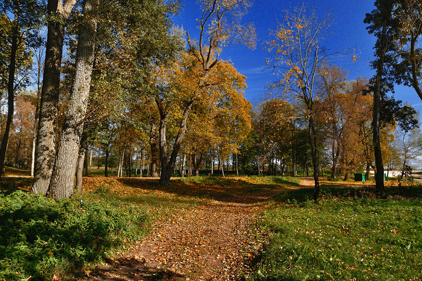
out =
<svg viewBox="0 0 422 281"><path fill-rule="evenodd" d="M173 174L177 155L186 133L187 122L192 107L201 93L204 93L208 77L219 62L219 54L224 45L231 42L242 42L249 46L255 45L254 28L240 24L242 15L250 6L247 0L202 0L203 14L199 19L199 38L195 42L189 32L188 44L190 58L183 59L186 63L182 66L183 73L180 77L189 77L189 88L181 89L185 92L183 110L180 118L179 130L174 138L171 154L167 153L166 122L168 104L164 101L169 97L167 93L157 95L155 100L160 111L160 158L161 176L160 185L168 186ZM182 84L181 84L182 85ZM189 89L188 92L186 90ZM179 90L179 91L181 91ZM163 94L163 92L161 92Z"/></svg>

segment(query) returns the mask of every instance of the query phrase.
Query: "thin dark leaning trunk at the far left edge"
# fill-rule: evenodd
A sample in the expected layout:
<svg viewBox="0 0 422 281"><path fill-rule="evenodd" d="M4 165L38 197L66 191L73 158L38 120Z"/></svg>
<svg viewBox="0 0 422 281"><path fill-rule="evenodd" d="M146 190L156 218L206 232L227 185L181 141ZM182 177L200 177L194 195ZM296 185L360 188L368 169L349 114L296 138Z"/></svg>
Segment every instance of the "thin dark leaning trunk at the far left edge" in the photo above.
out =
<svg viewBox="0 0 422 281"><path fill-rule="evenodd" d="M9 62L9 74L7 80L7 120L6 128L4 130L3 138L1 139L0 145L0 178L1 172L4 168L4 159L6 158L7 144L9 141L10 127L13 122L14 112L14 81L15 81L15 68L16 68L16 51L18 47L18 32L19 32L19 8L14 11L13 20L13 34L12 34L12 46L10 49L10 62Z"/></svg>

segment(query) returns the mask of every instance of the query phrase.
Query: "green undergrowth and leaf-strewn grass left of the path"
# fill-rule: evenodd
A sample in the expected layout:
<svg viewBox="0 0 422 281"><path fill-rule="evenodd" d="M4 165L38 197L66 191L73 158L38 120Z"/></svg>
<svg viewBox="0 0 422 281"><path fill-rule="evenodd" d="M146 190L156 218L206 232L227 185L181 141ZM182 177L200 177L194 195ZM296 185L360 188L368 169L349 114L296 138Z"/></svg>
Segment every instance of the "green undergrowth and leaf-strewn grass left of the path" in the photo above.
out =
<svg viewBox="0 0 422 281"><path fill-rule="evenodd" d="M115 179L84 178L83 194L55 201L28 194L31 178L5 177L0 185L0 280L72 279L73 269L128 249L148 233L153 220L201 203L157 190L154 181Z"/></svg>

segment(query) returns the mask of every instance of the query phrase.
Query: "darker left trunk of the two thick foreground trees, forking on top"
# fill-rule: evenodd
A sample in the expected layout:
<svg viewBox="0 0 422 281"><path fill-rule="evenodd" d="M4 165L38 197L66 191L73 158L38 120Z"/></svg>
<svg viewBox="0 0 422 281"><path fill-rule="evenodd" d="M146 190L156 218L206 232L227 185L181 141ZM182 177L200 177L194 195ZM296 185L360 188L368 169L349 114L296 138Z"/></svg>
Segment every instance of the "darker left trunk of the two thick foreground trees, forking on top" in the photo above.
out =
<svg viewBox="0 0 422 281"><path fill-rule="evenodd" d="M32 193L46 194L50 185L56 157L56 130L59 110L60 71L62 66L64 21L76 0L48 0L49 15L47 44L35 145L34 182ZM74 178L74 170L72 178ZM73 188L73 187L72 187Z"/></svg>

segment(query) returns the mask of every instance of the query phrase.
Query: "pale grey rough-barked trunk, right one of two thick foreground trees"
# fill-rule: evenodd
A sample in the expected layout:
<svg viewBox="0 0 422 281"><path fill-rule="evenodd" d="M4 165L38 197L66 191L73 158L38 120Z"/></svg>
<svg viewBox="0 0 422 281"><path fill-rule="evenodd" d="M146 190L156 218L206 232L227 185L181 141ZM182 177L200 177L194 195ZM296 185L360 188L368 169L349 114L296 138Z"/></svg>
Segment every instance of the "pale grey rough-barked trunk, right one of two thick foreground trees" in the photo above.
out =
<svg viewBox="0 0 422 281"><path fill-rule="evenodd" d="M60 135L50 187L47 191L47 195L55 199L68 198L73 192L77 151L88 106L89 87L94 62L97 8L97 0L84 0L83 19L79 25L76 67L69 105Z"/></svg>

